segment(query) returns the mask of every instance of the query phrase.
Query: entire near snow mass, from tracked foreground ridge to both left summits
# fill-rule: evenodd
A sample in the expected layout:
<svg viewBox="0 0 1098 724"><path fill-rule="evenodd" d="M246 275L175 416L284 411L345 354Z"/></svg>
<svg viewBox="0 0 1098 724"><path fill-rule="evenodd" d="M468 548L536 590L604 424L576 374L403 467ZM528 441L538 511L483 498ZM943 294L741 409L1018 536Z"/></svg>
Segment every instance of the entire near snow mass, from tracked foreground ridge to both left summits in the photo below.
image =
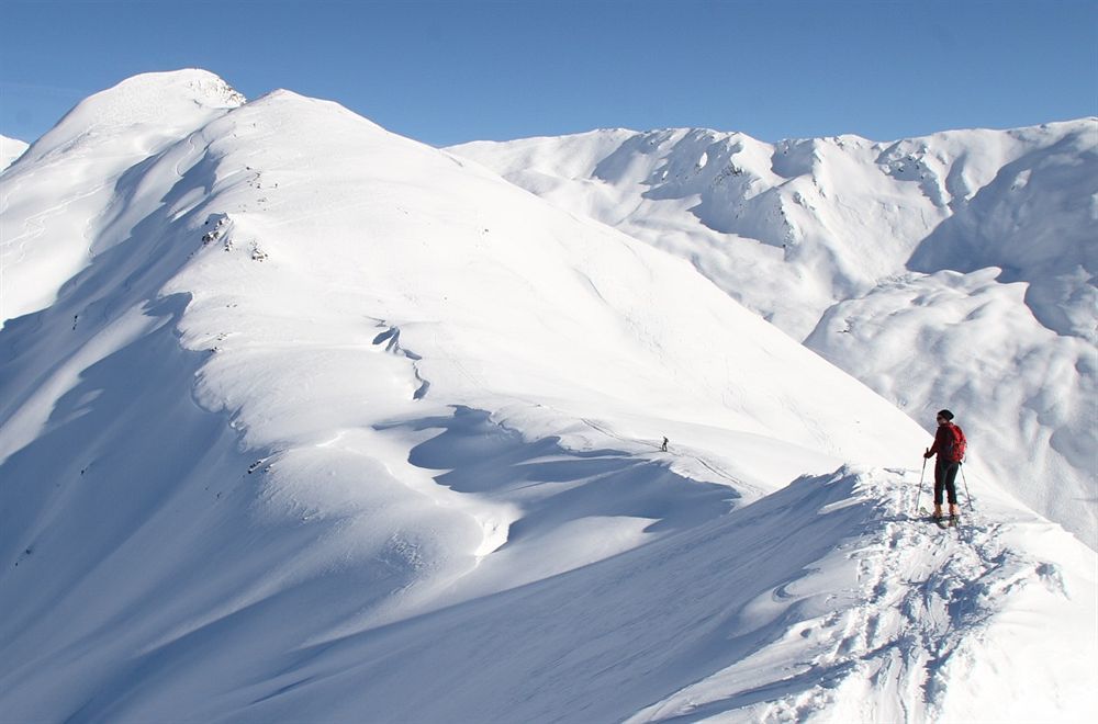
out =
<svg viewBox="0 0 1098 724"><path fill-rule="evenodd" d="M978 461L918 520L893 405L475 163L180 71L0 203L5 717L1098 705L1091 550Z"/></svg>

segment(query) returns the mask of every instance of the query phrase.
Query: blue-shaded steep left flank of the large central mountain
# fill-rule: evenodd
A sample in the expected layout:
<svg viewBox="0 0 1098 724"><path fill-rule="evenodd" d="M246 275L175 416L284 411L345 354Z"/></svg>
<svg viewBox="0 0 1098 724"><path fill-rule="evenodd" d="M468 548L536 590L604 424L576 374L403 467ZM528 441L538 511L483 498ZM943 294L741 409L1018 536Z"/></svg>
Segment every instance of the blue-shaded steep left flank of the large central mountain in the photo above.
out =
<svg viewBox="0 0 1098 724"><path fill-rule="evenodd" d="M156 689L176 656L255 636L246 648L261 658L293 633L257 630L278 631L303 609L324 629L369 600L298 559L330 525L259 506L255 453L228 415L195 401L210 354L179 343L189 296L145 296L188 246L156 229L96 257L55 305L11 320L0 338L0 710L10 721L87 719L130 687ZM339 586L370 580L376 597L411 575L383 562L358 573ZM206 669L208 683L222 675Z"/></svg>

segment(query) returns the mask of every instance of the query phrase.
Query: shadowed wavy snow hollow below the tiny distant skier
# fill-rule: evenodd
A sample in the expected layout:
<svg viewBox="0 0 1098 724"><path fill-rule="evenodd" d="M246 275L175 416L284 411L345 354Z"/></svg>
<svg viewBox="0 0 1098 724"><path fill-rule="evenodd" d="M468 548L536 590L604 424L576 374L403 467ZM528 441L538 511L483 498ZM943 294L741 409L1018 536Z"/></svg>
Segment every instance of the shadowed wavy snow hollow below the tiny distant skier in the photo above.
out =
<svg viewBox="0 0 1098 724"><path fill-rule="evenodd" d="M556 435L527 440L464 406L452 416L380 427L435 433L411 450L408 462L437 473L439 485L482 511L473 513L484 528L477 569L436 591L428 606L548 578L715 520L744 493L754 497L749 488L674 472L673 453L573 450ZM413 604L405 597L403 613Z"/></svg>

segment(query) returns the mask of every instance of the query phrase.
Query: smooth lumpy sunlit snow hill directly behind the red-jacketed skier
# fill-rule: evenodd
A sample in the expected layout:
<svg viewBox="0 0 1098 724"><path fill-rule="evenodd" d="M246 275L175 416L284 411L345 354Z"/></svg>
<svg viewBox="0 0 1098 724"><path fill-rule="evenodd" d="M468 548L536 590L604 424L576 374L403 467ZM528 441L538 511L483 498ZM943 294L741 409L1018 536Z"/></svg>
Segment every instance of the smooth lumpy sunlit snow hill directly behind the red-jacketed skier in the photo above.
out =
<svg viewBox="0 0 1098 724"><path fill-rule="evenodd" d="M1043 327L997 268L911 274L829 309L806 343L923 419L935 400L1019 498L1098 547L1094 344ZM887 320L886 323L883 320ZM927 350L927 357L911 350Z"/></svg>

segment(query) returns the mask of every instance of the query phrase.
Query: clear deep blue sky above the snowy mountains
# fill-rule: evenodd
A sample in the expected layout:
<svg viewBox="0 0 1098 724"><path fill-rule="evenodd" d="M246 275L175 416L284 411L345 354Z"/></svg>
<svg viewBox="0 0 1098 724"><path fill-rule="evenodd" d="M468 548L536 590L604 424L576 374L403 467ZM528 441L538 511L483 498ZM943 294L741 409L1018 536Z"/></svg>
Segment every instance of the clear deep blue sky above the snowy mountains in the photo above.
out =
<svg viewBox="0 0 1098 724"><path fill-rule="evenodd" d="M434 145L600 127L876 140L1098 115L1098 0L0 0L0 133L199 67Z"/></svg>

